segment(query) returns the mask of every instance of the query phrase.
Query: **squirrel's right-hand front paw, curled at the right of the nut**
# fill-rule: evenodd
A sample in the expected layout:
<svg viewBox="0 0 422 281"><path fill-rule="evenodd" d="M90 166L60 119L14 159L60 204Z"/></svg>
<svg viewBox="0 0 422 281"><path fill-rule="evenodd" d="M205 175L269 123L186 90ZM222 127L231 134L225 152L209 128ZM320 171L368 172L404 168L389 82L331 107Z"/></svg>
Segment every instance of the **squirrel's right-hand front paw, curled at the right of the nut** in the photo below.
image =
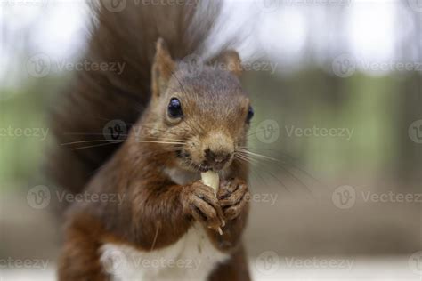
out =
<svg viewBox="0 0 422 281"><path fill-rule="evenodd" d="M234 178L220 182L217 198L219 205L223 208L224 218L233 220L248 205L248 185L245 181Z"/></svg>

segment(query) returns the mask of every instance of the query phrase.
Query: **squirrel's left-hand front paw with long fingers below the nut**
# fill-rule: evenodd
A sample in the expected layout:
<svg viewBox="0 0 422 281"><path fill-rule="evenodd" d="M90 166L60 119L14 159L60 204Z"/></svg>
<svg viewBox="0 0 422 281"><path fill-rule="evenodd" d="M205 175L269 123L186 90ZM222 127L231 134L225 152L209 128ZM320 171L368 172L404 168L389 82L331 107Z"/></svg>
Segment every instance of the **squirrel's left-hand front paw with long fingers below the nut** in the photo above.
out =
<svg viewBox="0 0 422 281"><path fill-rule="evenodd" d="M224 226L224 216L214 190L201 181L183 187L181 193L183 211L200 221L209 229L218 231Z"/></svg>

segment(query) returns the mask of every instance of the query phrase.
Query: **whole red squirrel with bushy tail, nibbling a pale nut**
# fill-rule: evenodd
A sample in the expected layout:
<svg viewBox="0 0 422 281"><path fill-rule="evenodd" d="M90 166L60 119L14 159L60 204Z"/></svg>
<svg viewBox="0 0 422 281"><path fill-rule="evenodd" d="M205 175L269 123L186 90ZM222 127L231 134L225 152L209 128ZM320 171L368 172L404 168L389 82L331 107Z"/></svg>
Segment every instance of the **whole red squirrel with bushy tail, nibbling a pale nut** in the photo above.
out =
<svg viewBox="0 0 422 281"><path fill-rule="evenodd" d="M58 279L249 280L238 152L254 112L241 60L226 47L183 61L204 52L222 3L107 3L93 6L85 59L125 68L77 73L52 116L56 141L73 148L57 145L49 169L71 193L123 199L69 205ZM127 124L117 141L102 133L113 120ZM200 180L207 171L222 179L216 196Z"/></svg>

